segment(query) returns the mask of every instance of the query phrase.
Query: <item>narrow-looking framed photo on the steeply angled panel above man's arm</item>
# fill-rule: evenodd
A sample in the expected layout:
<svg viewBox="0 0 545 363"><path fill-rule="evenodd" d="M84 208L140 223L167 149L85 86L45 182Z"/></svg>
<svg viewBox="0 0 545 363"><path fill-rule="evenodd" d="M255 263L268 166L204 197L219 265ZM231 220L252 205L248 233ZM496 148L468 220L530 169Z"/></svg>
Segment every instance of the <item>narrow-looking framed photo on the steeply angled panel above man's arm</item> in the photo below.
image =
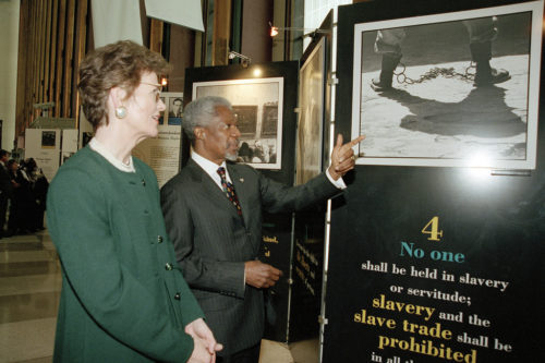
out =
<svg viewBox="0 0 545 363"><path fill-rule="evenodd" d="M325 37L315 46L299 72L299 128L296 184L322 172L324 144Z"/></svg>

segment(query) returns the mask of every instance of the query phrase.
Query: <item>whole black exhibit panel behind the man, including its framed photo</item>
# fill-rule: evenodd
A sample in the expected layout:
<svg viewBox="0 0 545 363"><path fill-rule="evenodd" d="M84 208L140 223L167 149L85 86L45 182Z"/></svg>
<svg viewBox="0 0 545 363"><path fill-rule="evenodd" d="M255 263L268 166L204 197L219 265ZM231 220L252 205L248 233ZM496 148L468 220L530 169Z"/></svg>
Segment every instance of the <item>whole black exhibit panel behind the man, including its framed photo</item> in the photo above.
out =
<svg viewBox="0 0 545 363"><path fill-rule="evenodd" d="M244 148L250 152L239 152L239 162L257 168L277 182L292 185L298 72L296 61L187 69L184 102L203 96L227 98L233 106L238 124L241 125L241 148L245 142L247 147ZM182 168L190 156L189 145L183 135ZM264 157L266 154L267 159ZM282 342L288 341L292 235L292 214L264 214L259 259L283 271L277 285L265 294L264 337Z"/></svg>

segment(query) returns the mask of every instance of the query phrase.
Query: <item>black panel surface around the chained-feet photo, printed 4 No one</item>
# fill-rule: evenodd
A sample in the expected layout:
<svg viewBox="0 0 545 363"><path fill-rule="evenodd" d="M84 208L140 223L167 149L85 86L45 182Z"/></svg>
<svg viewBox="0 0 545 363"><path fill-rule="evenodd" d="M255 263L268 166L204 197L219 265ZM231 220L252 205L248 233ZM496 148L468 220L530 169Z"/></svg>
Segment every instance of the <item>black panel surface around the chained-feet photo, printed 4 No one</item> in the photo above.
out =
<svg viewBox="0 0 545 363"><path fill-rule="evenodd" d="M339 7L336 131L344 138L352 134L355 23L521 2L525 1L382 0ZM542 85L543 77L542 58ZM543 107L543 87L540 93ZM532 171L356 166L343 198L332 201L323 362L545 359L541 347L544 123L541 114L537 165ZM427 232L433 233L434 227L440 232L435 235L439 241L427 239L433 237ZM412 271L420 275L411 276ZM508 286L500 291L501 283L492 281ZM427 291L428 295L417 295L417 291ZM441 292L458 302L441 299ZM460 297L469 297L470 302L462 302ZM435 315L425 320L407 310L396 311L401 306L396 302L434 308ZM439 319L439 313L451 314L450 319ZM411 334L403 328L404 320L427 328ZM439 330L437 324L440 330L450 330L451 337L434 337ZM429 346L428 341L437 349L436 354L428 348L426 353L416 351L416 347ZM455 352L461 355L455 359Z"/></svg>

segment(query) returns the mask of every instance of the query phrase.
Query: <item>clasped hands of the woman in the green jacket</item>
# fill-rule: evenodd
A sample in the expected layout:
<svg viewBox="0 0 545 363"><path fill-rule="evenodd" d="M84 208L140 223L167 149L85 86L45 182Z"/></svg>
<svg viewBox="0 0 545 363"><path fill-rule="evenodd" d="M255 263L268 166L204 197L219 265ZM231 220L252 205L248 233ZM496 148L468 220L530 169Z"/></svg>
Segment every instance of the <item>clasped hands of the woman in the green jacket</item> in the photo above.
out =
<svg viewBox="0 0 545 363"><path fill-rule="evenodd" d="M194 342L193 353L187 362L216 362L216 352L223 349L223 346L216 342L214 334L202 318L187 324L185 332L193 338Z"/></svg>

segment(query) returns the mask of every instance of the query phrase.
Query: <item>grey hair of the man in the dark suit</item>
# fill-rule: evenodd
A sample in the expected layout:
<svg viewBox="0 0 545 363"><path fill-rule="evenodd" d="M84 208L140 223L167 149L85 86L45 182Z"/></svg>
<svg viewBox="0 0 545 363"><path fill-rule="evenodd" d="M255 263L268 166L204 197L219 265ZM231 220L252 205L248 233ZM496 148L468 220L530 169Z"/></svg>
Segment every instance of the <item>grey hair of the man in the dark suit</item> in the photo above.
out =
<svg viewBox="0 0 545 363"><path fill-rule="evenodd" d="M185 135L190 138L191 144L195 142L195 128L205 128L215 122L218 118L216 108L220 106L225 106L230 110L232 109L231 102L223 97L216 96L197 98L185 107L183 110L182 128Z"/></svg>

